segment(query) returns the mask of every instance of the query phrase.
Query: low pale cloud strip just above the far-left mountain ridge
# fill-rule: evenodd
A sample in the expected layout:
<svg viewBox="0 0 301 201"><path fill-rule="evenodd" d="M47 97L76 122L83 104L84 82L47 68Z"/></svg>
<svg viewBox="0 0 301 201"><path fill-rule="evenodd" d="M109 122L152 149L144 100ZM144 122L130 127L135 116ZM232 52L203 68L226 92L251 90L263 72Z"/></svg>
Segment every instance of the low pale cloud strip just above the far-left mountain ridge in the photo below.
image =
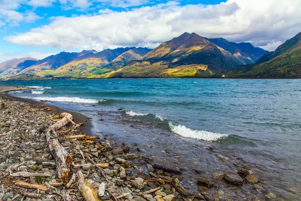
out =
<svg viewBox="0 0 301 201"><path fill-rule="evenodd" d="M41 53L41 52L0 52L0 63L14 59L14 58L23 58L23 57L32 57L35 59L44 59L50 55L58 54L58 52L54 53Z"/></svg>

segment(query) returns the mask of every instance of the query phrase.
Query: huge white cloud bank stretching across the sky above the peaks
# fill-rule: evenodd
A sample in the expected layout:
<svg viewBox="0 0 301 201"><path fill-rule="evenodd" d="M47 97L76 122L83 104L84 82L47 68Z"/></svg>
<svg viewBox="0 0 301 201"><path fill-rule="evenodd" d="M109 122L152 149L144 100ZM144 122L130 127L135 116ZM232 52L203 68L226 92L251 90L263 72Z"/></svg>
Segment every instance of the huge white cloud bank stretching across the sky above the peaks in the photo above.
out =
<svg viewBox="0 0 301 201"><path fill-rule="evenodd" d="M113 1L102 2L112 4ZM273 50L300 31L299 8L301 1L295 0L228 0L209 6L180 6L177 2L169 2L127 12L59 17L49 25L5 40L24 46L100 51L120 46L155 47L184 32L196 32L205 37L251 42Z"/></svg>

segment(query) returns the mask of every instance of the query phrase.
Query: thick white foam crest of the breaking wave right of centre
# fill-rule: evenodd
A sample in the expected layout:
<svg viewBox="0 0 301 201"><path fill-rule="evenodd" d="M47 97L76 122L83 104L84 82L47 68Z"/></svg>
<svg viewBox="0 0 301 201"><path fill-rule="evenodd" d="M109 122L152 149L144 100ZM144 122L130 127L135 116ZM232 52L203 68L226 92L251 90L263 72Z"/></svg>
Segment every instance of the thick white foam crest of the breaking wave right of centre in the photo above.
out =
<svg viewBox="0 0 301 201"><path fill-rule="evenodd" d="M181 126L181 125L175 126L171 122L169 122L169 126L171 131L185 138L194 138L194 139L206 140L206 141L216 141L218 139L224 139L228 137L227 134L214 133L214 132L202 131L202 130L193 130L187 128L186 126Z"/></svg>

